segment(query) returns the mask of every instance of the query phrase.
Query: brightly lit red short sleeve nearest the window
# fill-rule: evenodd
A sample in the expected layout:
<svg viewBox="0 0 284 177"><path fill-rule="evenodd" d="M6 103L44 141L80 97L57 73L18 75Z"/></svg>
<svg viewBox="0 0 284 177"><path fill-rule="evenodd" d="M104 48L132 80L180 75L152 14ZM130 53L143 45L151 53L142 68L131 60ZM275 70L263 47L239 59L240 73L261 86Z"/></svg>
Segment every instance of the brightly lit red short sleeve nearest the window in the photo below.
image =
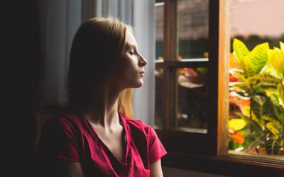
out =
<svg viewBox="0 0 284 177"><path fill-rule="evenodd" d="M162 142L158 138L155 130L151 126L148 127L148 158L149 163L152 164L154 161L158 161L161 159L165 154L167 154L165 148L163 147Z"/></svg>

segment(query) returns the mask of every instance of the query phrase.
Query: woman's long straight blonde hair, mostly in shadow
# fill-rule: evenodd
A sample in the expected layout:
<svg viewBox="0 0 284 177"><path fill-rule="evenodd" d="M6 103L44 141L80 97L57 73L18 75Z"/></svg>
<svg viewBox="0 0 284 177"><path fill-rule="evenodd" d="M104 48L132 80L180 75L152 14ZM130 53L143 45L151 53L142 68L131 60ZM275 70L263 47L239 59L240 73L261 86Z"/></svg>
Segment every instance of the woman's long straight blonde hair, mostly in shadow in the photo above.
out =
<svg viewBox="0 0 284 177"><path fill-rule="evenodd" d="M68 109L80 111L106 96L126 45L126 30L133 33L130 25L116 18L97 17L82 23L70 51ZM124 89L118 101L119 112L129 118L133 117L132 96L133 89Z"/></svg>

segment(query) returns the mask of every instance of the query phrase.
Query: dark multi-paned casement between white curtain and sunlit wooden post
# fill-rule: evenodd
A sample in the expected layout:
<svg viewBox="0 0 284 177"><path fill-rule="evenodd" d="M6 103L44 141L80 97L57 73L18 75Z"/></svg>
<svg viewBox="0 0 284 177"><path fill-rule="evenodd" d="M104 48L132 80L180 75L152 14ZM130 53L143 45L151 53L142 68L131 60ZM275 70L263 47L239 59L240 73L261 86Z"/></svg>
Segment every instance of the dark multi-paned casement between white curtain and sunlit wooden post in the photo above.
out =
<svg viewBox="0 0 284 177"><path fill-rule="evenodd" d="M209 1L157 1L155 12L155 128L167 130L173 140L181 133L203 142L211 109ZM186 144L183 152L200 149Z"/></svg>

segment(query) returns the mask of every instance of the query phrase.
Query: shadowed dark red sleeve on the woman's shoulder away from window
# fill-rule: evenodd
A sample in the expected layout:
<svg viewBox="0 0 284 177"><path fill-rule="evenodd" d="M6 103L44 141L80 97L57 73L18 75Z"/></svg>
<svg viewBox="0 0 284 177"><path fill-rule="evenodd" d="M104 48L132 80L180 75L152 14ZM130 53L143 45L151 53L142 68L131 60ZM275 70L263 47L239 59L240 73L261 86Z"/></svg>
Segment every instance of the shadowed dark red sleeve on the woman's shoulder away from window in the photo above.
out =
<svg viewBox="0 0 284 177"><path fill-rule="evenodd" d="M38 149L48 158L80 161L80 134L76 126L67 119L49 121L43 127Z"/></svg>

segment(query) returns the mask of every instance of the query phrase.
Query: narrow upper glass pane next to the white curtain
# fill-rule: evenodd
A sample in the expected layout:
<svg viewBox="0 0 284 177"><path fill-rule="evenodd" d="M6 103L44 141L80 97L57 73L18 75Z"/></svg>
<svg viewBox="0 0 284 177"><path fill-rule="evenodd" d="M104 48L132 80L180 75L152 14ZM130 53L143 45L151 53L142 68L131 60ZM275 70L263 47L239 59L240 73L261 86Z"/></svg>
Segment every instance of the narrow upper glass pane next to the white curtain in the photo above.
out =
<svg viewBox="0 0 284 177"><path fill-rule="evenodd" d="M155 59L163 60L164 3L155 4Z"/></svg>

